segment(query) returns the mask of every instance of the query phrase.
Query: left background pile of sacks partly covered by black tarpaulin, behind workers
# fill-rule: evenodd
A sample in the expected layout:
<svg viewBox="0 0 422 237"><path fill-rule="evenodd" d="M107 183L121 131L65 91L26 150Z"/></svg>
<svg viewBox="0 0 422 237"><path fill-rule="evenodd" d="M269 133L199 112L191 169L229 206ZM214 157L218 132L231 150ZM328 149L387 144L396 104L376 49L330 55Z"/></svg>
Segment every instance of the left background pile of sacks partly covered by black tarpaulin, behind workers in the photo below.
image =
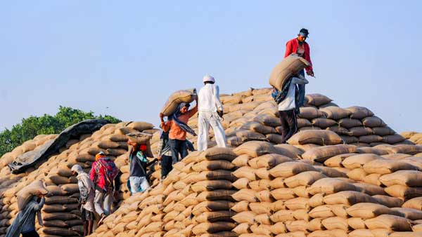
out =
<svg viewBox="0 0 422 237"><path fill-rule="evenodd" d="M95 161L95 155L99 151L105 152L120 168L119 199L115 200L115 209L117 209L120 202L130 196L126 185L129 177L127 140L136 139L136 137L132 138L132 134L145 133L151 136L155 131L151 123L145 122L107 124L92 134L81 135L78 137L79 139L69 140L65 147L60 149L60 154L50 156L47 161L40 161L25 173L13 175L8 171L8 167L3 167L0 171L0 236L4 236L7 227L11 225L13 218L20 210L17 201L18 191L30 186L35 180L42 180L49 192L42 209L44 227L37 224L40 236L82 235L83 226L78 208L79 187L70 168L78 164L84 168L85 172L89 172ZM39 137L47 137L43 139L46 142L55 136ZM39 137L36 137L34 141L37 142ZM38 146L44 142L39 142ZM25 144L27 143L29 142L25 142ZM22 149L25 144L17 149ZM37 149L37 146L34 149ZM17 151L13 150L12 154L15 152ZM9 156L9 154L5 154L5 156ZM0 160L2 159L0 158Z"/></svg>

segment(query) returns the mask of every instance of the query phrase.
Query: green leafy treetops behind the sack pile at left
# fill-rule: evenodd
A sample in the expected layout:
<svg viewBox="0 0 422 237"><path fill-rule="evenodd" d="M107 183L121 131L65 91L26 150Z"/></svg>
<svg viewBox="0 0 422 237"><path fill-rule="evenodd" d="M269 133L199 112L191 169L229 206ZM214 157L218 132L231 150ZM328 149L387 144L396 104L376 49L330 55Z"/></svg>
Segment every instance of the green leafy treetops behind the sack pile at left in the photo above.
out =
<svg viewBox="0 0 422 237"><path fill-rule="evenodd" d="M57 114L54 116L44 114L39 117L30 116L23 118L11 130L6 128L6 130L2 131L0 133L0 157L39 134L60 133L75 123L93 118L104 118L111 123L120 122L120 119L110 115L95 116L93 111L85 112L80 109L60 106L58 107Z"/></svg>

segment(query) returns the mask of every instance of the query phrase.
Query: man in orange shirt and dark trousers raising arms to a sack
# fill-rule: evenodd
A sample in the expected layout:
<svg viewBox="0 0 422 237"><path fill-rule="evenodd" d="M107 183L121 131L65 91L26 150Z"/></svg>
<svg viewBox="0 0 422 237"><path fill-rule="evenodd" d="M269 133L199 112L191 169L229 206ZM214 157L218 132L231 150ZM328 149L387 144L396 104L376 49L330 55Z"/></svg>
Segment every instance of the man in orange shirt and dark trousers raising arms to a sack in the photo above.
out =
<svg viewBox="0 0 422 237"><path fill-rule="evenodd" d="M195 131L188 126L188 120L198 112L198 97L196 97L196 106L189 110L190 104L181 103L177 111L168 116L168 121L164 121L164 114L160 113L161 128L165 133L169 132L169 144L172 150L173 163L185 158L188 155L186 146L186 133L196 136Z"/></svg>

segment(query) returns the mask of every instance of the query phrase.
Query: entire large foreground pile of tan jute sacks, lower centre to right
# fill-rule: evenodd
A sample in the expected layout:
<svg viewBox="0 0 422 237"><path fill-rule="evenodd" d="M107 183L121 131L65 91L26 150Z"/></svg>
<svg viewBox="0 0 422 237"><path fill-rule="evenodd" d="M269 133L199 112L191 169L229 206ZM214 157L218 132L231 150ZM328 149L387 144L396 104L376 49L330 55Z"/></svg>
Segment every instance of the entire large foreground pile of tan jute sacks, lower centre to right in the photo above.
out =
<svg viewBox="0 0 422 237"><path fill-rule="evenodd" d="M421 151L250 141L193 152L92 236L421 236Z"/></svg>

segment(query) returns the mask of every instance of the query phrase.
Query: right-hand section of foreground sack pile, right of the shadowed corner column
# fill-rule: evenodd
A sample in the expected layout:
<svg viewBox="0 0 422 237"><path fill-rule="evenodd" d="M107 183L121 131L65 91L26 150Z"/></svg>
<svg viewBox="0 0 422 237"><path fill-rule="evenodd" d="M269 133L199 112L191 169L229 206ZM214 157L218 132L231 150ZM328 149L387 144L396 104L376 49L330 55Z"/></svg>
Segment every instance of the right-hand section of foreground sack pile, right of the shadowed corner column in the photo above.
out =
<svg viewBox="0 0 422 237"><path fill-rule="evenodd" d="M421 230L422 172L416 165L358 154L369 149L347 144L300 154L286 144L246 142L234 151L238 157L232 163L239 167L234 187L239 191L233 195L237 203L232 210L238 212L234 232L240 236L421 234L407 233ZM330 168L323 162L340 165ZM345 170L359 168L378 175L379 185L345 177Z"/></svg>

